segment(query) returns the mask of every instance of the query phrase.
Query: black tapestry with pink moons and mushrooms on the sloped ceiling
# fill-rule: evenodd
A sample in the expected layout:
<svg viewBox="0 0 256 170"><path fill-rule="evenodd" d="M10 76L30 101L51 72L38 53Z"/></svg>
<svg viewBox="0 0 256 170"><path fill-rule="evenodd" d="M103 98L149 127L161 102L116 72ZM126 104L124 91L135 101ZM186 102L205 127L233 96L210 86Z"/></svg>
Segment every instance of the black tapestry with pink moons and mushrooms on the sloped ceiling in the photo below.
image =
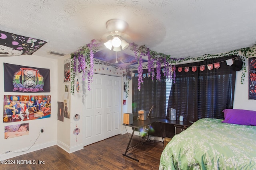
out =
<svg viewBox="0 0 256 170"><path fill-rule="evenodd" d="M0 31L0 56L32 55L46 41Z"/></svg>

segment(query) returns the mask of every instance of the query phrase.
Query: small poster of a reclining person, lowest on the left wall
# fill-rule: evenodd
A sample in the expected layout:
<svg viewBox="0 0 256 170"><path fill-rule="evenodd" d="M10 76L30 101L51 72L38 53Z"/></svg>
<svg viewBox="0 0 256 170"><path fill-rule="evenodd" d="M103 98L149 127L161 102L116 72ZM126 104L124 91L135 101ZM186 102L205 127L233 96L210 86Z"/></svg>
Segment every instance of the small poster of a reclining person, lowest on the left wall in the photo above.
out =
<svg viewBox="0 0 256 170"><path fill-rule="evenodd" d="M4 139L28 135L28 123L9 125L4 127Z"/></svg>

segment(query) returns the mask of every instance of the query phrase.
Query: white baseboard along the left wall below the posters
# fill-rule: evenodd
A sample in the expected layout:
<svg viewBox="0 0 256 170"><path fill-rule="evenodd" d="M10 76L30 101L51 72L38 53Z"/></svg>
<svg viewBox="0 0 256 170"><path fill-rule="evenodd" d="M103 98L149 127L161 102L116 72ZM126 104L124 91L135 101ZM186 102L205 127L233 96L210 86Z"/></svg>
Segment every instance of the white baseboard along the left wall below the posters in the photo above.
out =
<svg viewBox="0 0 256 170"><path fill-rule="evenodd" d="M43 143L43 144L39 144L39 145L34 145L33 147L26 147L23 148L21 150L12 150L8 153L4 153L0 156L0 160L6 160L6 159L10 159L10 158L14 158L16 156L20 156L22 154L26 154L26 153L30 153L30 152L34 152L36 150L40 150L40 149L44 149L44 148L48 148L48 147L52 147L54 145L56 145L57 142L56 141L52 141L52 142L48 142L48 143ZM29 149L30 148L30 149Z"/></svg>

